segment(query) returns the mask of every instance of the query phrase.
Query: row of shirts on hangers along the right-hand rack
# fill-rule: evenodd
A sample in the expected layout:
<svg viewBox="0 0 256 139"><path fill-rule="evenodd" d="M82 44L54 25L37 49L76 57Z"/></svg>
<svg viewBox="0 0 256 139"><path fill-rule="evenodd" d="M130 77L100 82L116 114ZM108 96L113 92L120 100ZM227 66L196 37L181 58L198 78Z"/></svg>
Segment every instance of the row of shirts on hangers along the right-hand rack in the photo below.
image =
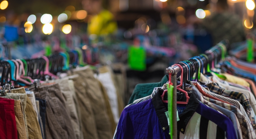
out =
<svg viewBox="0 0 256 139"><path fill-rule="evenodd" d="M121 114L114 139L256 138L255 64L234 59L228 63L232 59L225 58L226 45L221 42L173 65L161 82L138 84ZM175 99L170 93L175 93ZM172 101L177 107L170 111L167 103Z"/></svg>

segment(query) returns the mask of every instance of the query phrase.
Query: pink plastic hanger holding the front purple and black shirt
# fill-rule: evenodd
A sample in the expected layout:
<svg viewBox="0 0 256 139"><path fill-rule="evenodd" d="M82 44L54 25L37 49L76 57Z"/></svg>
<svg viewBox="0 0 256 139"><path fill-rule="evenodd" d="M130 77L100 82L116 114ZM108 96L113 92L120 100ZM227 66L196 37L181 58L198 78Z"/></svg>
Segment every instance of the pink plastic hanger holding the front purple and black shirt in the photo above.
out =
<svg viewBox="0 0 256 139"><path fill-rule="evenodd" d="M177 101L177 104L188 104L188 100L189 100L188 93L187 93L185 90L182 90L182 89L179 88L179 87L182 86L182 83L183 83L183 68L182 68L181 65L179 65L179 64L174 64L173 66L175 66L175 65L178 66L178 67L180 67L180 69L181 69L181 81L180 81L180 85L177 86L177 90L179 90L180 92L184 93L184 94L186 95L186 98L187 98L187 101L186 101L186 102ZM172 67L173 67L173 66L172 66ZM169 84L170 84L170 85L173 85L173 83L171 83L171 74L169 74ZM163 97L164 97L164 95L166 94L166 92L167 92L167 89L164 90L164 91L163 91L163 94L161 95L161 97L162 97L162 102L164 102L164 103L168 103L168 101L163 100Z"/></svg>

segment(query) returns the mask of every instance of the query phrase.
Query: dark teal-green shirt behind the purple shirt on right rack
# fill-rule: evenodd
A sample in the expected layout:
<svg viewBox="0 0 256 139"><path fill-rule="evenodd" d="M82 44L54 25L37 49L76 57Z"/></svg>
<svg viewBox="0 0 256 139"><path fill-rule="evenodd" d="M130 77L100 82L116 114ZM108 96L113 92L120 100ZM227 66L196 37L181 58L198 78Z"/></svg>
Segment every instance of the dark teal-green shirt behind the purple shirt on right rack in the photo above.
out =
<svg viewBox="0 0 256 139"><path fill-rule="evenodd" d="M168 75L164 75L160 82L155 83L140 83L137 84L133 90L133 94L129 99L128 104L133 103L135 100L151 95L155 87L163 86L169 80Z"/></svg>

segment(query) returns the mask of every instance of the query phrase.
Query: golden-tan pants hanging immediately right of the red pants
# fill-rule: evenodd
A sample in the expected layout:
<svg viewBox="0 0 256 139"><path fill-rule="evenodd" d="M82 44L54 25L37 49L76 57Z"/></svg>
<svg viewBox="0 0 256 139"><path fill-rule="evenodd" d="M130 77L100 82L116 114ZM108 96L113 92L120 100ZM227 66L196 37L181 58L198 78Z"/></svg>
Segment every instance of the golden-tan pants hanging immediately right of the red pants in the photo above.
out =
<svg viewBox="0 0 256 139"><path fill-rule="evenodd" d="M22 110L22 104L20 101L20 97L18 95L3 96L3 97L14 100L14 113L15 113L18 139L27 139L27 132L26 132L25 120L24 120L24 116L23 116L23 110Z"/></svg>

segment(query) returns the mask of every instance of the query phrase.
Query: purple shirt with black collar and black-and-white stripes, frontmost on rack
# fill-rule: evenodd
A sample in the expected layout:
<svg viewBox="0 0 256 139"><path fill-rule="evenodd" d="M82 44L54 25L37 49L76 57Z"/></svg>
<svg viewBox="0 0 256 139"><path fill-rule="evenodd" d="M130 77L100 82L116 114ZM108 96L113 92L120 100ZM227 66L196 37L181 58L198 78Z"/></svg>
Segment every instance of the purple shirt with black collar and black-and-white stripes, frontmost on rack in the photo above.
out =
<svg viewBox="0 0 256 139"><path fill-rule="evenodd" d="M163 90L159 89L150 100L132 105L123 110L117 126L117 139L170 138L169 125L161 100ZM186 107L179 114L177 122L178 138L236 139L231 120L218 111L200 103L191 93Z"/></svg>

